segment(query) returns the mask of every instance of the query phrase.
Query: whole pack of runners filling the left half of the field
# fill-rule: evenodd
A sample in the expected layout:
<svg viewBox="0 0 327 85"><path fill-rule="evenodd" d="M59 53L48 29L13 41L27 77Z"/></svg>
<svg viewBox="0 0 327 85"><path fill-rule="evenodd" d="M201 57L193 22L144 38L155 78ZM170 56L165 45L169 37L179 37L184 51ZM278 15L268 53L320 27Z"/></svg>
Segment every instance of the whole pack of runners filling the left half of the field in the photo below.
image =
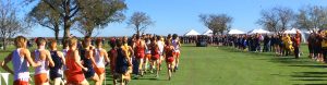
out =
<svg viewBox="0 0 327 85"><path fill-rule="evenodd" d="M181 47L177 34L166 38L155 35L111 38L109 51L102 48L102 38L89 36L81 41L76 37L65 39L61 51L57 40L48 41L43 37L36 38L37 49L32 52L26 44L25 37L17 36L14 39L16 49L1 61L1 66L14 75L14 85L29 84L29 66L35 70L35 85L88 85L88 81L102 85L106 68L110 68L114 85L126 84L132 74L138 78L145 73L156 72L158 77L164 61L168 80L171 80L172 72L179 66ZM9 62L12 62L12 68L9 68Z"/></svg>

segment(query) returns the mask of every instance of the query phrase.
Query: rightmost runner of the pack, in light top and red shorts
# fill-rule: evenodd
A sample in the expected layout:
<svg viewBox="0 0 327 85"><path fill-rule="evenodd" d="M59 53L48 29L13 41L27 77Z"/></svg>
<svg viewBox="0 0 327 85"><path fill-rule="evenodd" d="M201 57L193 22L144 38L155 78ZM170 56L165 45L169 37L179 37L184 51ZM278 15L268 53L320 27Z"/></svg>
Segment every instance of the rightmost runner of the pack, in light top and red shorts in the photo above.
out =
<svg viewBox="0 0 327 85"><path fill-rule="evenodd" d="M171 45L174 48L173 54L175 56L175 66L174 66L173 71L175 72L179 68L179 61L180 61L180 54L181 54L181 51L180 51L181 42L180 42L177 34L172 35Z"/></svg>

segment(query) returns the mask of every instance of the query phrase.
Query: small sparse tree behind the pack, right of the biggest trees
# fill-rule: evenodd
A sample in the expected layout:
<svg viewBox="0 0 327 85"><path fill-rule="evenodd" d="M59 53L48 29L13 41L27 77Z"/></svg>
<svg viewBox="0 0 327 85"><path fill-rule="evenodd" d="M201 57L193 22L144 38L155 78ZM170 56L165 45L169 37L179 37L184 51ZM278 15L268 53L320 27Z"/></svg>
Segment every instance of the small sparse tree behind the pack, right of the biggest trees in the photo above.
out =
<svg viewBox="0 0 327 85"><path fill-rule="evenodd" d="M128 21L129 26L133 26L134 31L137 35L140 35L140 32L144 33L145 29L153 25L154 21L144 12L134 12L131 19Z"/></svg>

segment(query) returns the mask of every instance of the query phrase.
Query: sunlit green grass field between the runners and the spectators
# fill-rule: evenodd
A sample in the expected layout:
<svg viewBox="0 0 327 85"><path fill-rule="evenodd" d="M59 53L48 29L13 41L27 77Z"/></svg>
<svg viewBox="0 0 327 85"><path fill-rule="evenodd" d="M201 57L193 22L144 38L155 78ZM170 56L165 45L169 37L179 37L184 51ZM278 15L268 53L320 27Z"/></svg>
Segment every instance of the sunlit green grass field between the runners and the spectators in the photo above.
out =
<svg viewBox="0 0 327 85"><path fill-rule="evenodd" d="M165 66L159 78L146 74L132 80L130 85L326 85L327 65L308 59L305 46L302 51L304 56L293 59L243 52L231 47L184 45L180 70L173 73L171 81ZM7 53L0 52L1 59ZM112 84L110 78L107 84Z"/></svg>

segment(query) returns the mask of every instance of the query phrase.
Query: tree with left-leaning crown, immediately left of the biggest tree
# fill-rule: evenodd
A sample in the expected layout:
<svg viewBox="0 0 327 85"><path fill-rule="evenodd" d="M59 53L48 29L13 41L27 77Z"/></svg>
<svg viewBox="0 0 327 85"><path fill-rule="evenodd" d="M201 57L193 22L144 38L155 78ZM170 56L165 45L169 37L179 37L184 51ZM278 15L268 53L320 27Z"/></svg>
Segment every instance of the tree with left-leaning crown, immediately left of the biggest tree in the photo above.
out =
<svg viewBox="0 0 327 85"><path fill-rule="evenodd" d="M58 40L62 21L60 19L60 14L57 11L51 9L47 3L40 2L35 8L33 8L28 16L33 22L52 29L55 32L56 40Z"/></svg>

